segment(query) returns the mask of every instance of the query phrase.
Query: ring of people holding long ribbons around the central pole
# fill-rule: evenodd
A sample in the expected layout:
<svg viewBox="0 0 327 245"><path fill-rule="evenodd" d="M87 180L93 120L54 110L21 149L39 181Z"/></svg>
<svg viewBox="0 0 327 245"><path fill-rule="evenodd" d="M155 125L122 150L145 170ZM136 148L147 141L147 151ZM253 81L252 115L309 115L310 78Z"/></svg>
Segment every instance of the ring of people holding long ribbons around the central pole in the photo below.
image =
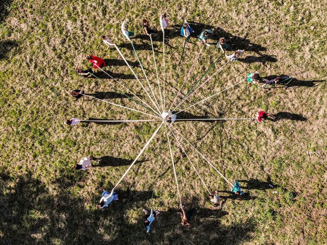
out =
<svg viewBox="0 0 327 245"><path fill-rule="evenodd" d="M169 20L166 14L162 14L160 16L160 21L161 24L160 26L164 29L168 29L170 27L169 24ZM143 29L146 33L146 35L150 36L153 35L154 32L153 30L150 29L149 27L149 23L147 21L147 19L143 19L142 21L142 25L143 25ZM133 31L129 31L128 30L128 26L123 24L122 26L122 32L123 35L129 40L129 38L133 38L136 35L134 34ZM190 26L189 22L187 20L184 20L184 23L181 26L180 29L180 35L182 37L185 38L189 38L191 36L192 33L194 33L195 31L192 29L192 27ZM209 35L213 33L212 30L209 29L205 29L202 30L200 32L200 34L197 36L199 41L203 42L204 45L206 46L210 46L211 44L208 43L208 38ZM110 40L107 36L101 36L103 42L107 45L107 49L111 46L114 46L115 44L113 43L112 40ZM219 51L221 51L223 54L225 54L225 57L229 60L229 61L237 61L239 56L242 55L244 53L244 50L237 50L235 52L233 52L230 55L226 54L226 51L229 51L229 44L226 43L226 39L224 37L221 37L217 44L217 49ZM93 65L93 68L95 70L97 70L98 68L104 67L106 66L105 61L97 56L94 55L89 55L86 57L86 59ZM75 71L77 72L77 74L83 76L84 78L90 78L92 77L92 75L94 75L94 70L92 68L83 70L81 68L76 68ZM286 81L288 79L290 79L292 77L289 76L276 76L273 79L265 79L260 77L259 72L255 71L252 72L250 74L247 75L247 82L249 83L253 83L253 84L258 84L258 83L264 83L264 86L268 85L268 86L274 86L277 85L279 83L282 83L283 81ZM80 90L80 89L76 89L76 90L72 90L70 92L68 92L70 95L72 95L73 97L75 97L76 99L80 99L83 97L83 95L85 94L85 91ZM254 116L256 118L256 120L258 120L259 122L264 121L268 118L270 119L275 119L274 115L270 114L270 113L266 113L265 111L259 111L258 113L256 113L255 115L253 115L253 119ZM70 120L65 120L64 124L65 125L75 125L77 127L77 125L81 122L80 119L78 118L72 118ZM75 165L75 169L81 169L81 170L87 170L92 168L92 164L91 164L91 159L90 157L83 157L79 163L77 163ZM243 195L244 192L241 190L241 186L239 184L239 182L237 180L234 181L233 184L233 188L231 189L231 191L236 194L236 195ZM217 209L220 209L222 207L222 204L224 203L224 199L221 199L219 196L218 191L216 190L214 192L214 194L209 195L209 201L213 204L213 206ZM108 207L108 205L113 202L113 201L118 201L118 194L116 194L115 192L110 193L107 190L103 190L103 193L101 194L101 199L100 199L100 203L98 205L99 208L105 208ZM194 216L196 214L196 208L192 208L188 211L185 211L184 206L182 204L180 204L180 208L181 208L181 212L178 212L177 214L180 216L181 218L181 224L183 226L190 226L190 219L192 216ZM150 210L150 212L148 212L147 210L143 209L143 212L145 213L145 222L144 225L147 228L147 232L150 231L150 225L153 223L153 221L155 220L156 216L158 216L160 214L160 212L158 210L153 211L152 208Z"/></svg>

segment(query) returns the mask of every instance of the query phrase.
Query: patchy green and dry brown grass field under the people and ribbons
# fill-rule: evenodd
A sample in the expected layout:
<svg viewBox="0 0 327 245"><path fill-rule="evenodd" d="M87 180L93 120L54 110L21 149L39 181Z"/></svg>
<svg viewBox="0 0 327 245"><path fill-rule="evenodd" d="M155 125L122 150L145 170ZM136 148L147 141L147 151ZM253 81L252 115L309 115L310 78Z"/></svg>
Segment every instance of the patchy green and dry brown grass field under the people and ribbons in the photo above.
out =
<svg viewBox="0 0 327 245"><path fill-rule="evenodd" d="M0 243L327 244L326 5L325 0L2 1ZM224 36L232 50L245 50L239 61L224 66L176 111L241 81L254 70L262 76L296 75L287 88L261 89L244 81L179 114L185 118L247 118L264 109L285 117L260 124L191 121L173 125L230 181L242 180L247 192L236 199L216 171L183 142L209 189L222 191L226 199L222 210L213 210L205 188L171 136L182 202L186 209L198 207L189 228L182 227L176 215L179 201L164 127L116 189L120 200L107 209L97 208L102 189L115 185L160 122L63 125L72 117L151 118L101 101L77 101L65 90L83 89L146 111L119 94L112 96L112 92L127 91L103 72L97 72L101 80L83 79L74 68L88 68L85 57L89 54L102 57L111 76L147 100L118 52L106 50L100 36L108 35L118 44L146 84L131 44L121 34L120 25L127 19L155 87L151 43L142 30L146 17L158 31L153 39L162 85L158 23L162 12L172 25L165 34L169 106L202 47L196 38L202 29L214 30L213 44ZM186 43L177 76L184 43L179 28L184 18L196 35ZM215 45L203 48L182 94L220 54ZM205 78L225 62L225 58L219 60ZM155 93L158 95L157 87ZM104 160L89 171L76 171L73 166L82 156ZM271 189L268 180L276 188ZM142 208L150 209L151 204L161 214L146 234Z"/></svg>

